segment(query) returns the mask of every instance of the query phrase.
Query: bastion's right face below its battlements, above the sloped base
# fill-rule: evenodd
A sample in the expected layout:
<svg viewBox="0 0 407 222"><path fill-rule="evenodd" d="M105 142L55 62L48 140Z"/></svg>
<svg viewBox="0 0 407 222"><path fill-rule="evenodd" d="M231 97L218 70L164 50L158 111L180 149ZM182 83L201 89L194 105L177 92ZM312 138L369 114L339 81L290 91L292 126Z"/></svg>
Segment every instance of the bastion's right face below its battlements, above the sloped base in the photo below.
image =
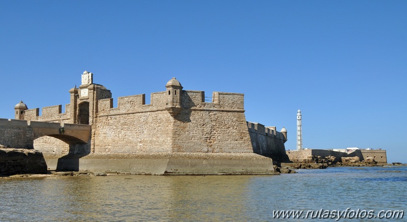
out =
<svg viewBox="0 0 407 222"><path fill-rule="evenodd" d="M173 152L253 153L243 110L183 109L172 130Z"/></svg>

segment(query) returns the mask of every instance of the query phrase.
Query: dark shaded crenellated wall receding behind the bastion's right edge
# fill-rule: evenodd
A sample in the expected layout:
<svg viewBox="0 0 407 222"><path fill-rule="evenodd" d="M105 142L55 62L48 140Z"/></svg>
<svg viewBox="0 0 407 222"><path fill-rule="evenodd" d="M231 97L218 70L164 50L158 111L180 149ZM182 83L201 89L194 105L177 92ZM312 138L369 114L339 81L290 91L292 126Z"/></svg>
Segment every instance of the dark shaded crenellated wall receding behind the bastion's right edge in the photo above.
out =
<svg viewBox="0 0 407 222"><path fill-rule="evenodd" d="M276 161L287 161L285 152L285 137L281 132L277 132L276 127L264 127L259 123L247 122L250 133L250 140L253 152L271 157Z"/></svg>

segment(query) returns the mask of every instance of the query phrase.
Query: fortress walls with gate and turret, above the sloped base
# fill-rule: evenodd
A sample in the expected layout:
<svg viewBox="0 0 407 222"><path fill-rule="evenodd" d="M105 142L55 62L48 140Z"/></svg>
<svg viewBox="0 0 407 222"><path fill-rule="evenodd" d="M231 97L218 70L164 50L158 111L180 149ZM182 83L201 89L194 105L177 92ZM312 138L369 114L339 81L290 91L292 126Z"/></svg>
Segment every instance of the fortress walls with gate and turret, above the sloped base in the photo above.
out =
<svg viewBox="0 0 407 222"><path fill-rule="evenodd" d="M204 91L182 90L173 78L166 91L151 93L150 104L146 104L145 94L140 94L118 97L117 107L113 107L110 90L92 80L69 90L66 113L56 105L42 108L41 116L39 108L27 109L22 118L91 125L88 145L95 155L260 154L277 161L287 156L286 138L275 127L246 121L243 94L213 92L212 101L207 102ZM49 136L37 138L34 148L44 156L65 155L71 150Z"/></svg>

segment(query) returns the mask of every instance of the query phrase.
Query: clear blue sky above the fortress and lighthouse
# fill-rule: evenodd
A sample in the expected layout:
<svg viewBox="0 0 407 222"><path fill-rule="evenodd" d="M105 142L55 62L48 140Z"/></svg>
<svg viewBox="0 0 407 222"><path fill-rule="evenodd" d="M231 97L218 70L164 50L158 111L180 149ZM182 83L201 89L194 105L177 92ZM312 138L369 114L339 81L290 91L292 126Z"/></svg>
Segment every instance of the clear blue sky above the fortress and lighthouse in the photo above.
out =
<svg viewBox="0 0 407 222"><path fill-rule="evenodd" d="M407 162L407 1L0 0L0 118L69 103L80 75L117 97L245 94L246 118L306 148Z"/></svg>

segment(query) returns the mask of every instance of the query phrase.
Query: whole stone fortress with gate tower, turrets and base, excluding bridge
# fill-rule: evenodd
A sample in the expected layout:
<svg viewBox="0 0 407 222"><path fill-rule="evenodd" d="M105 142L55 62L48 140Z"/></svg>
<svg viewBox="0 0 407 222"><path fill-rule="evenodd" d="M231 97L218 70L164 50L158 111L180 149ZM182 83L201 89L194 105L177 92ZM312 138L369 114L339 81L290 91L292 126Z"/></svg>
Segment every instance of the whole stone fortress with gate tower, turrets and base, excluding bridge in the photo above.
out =
<svg viewBox="0 0 407 222"><path fill-rule="evenodd" d="M273 160L288 161L287 130L247 122L243 94L185 91L176 78L164 92L118 98L82 74L82 85L69 90L70 103L28 109L21 101L15 119L91 126L85 143L41 136L34 148L49 169L120 171L141 174L274 174ZM15 121L15 120L14 120ZM61 128L64 130L64 127ZM63 134L64 131L61 130ZM61 134L60 133L60 134ZM82 140L84 142L84 140Z"/></svg>

